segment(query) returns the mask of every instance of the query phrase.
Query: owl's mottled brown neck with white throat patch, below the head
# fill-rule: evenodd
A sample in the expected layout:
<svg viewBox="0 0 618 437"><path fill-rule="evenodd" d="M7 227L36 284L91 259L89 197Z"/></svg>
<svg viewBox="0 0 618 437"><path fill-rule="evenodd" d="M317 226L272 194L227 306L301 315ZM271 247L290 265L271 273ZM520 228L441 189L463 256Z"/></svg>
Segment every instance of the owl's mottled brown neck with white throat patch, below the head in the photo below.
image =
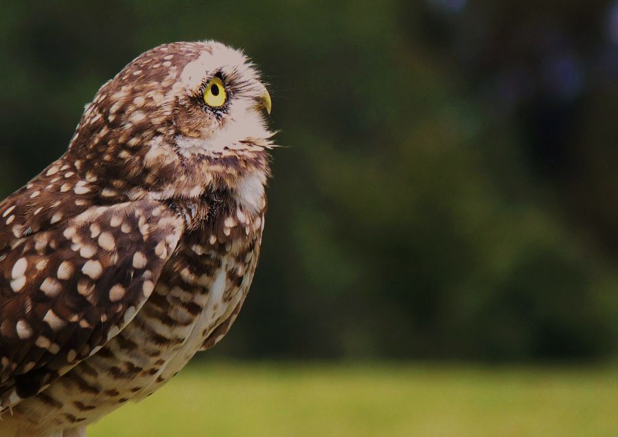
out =
<svg viewBox="0 0 618 437"><path fill-rule="evenodd" d="M270 169L268 150L249 143L225 154L179 153L171 138L155 137L142 147L106 142L89 147L74 139L61 158L78 163L80 178L91 180L96 204L157 200L199 200L227 193L248 213L265 204L264 185ZM93 155L100 155L93 158Z"/></svg>

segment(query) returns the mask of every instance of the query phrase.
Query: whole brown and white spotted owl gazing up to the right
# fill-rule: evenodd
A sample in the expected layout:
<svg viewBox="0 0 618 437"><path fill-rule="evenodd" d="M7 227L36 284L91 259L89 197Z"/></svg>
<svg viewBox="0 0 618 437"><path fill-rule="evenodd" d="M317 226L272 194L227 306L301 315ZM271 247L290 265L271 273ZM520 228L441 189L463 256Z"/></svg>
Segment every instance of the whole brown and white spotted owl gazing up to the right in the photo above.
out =
<svg viewBox="0 0 618 437"><path fill-rule="evenodd" d="M240 51L161 45L0 203L0 436L85 436L227 333L260 254L270 112Z"/></svg>

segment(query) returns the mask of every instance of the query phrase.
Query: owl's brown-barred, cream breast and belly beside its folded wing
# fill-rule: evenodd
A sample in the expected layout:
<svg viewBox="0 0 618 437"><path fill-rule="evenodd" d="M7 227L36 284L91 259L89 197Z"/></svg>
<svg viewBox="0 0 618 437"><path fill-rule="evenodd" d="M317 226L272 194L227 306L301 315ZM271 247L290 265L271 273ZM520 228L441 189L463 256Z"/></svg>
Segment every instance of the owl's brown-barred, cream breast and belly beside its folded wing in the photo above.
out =
<svg viewBox="0 0 618 437"><path fill-rule="evenodd" d="M95 355L17 405L17 413L43 428L87 425L128 400L152 394L197 351L216 344L249 291L264 203L259 213L233 199L174 205L192 229L179 241L144 307Z"/></svg>

